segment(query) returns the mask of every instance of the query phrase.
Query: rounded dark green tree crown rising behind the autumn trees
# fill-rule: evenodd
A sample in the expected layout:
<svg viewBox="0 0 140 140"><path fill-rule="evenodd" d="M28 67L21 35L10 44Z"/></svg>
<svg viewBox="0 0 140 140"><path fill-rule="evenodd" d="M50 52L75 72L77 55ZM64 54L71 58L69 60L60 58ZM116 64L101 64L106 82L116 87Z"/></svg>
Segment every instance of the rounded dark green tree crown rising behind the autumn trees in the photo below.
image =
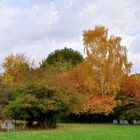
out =
<svg viewBox="0 0 140 140"><path fill-rule="evenodd" d="M40 64L41 68L45 68L48 64L55 66L59 71L71 70L74 66L83 61L83 56L71 48L55 50Z"/></svg>

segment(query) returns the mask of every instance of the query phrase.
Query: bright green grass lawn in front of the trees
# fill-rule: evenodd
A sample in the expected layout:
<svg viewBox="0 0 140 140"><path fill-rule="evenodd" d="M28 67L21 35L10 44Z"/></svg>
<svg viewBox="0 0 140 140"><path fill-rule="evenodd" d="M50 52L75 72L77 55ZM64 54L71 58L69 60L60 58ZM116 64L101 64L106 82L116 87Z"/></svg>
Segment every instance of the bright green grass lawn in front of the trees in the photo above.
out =
<svg viewBox="0 0 140 140"><path fill-rule="evenodd" d="M0 132L0 140L140 140L140 126L59 124L54 130Z"/></svg>

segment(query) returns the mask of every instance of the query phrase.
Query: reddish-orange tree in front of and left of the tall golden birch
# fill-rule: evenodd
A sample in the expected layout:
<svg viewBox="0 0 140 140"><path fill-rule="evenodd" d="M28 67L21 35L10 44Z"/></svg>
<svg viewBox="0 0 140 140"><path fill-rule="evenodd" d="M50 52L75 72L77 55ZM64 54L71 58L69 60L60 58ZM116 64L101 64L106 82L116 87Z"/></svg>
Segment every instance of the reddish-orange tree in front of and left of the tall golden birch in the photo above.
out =
<svg viewBox="0 0 140 140"><path fill-rule="evenodd" d="M73 87L78 93L79 104L75 114L109 114L116 106L112 95L101 95L96 92L89 65L83 62L67 73L64 83Z"/></svg>

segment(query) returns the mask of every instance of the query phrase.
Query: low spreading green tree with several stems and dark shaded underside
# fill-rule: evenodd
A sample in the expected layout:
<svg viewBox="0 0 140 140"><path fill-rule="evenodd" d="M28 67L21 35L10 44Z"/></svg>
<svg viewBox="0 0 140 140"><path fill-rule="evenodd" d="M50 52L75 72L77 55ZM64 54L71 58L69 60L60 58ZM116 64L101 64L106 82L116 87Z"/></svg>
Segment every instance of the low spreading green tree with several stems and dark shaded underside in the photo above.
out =
<svg viewBox="0 0 140 140"><path fill-rule="evenodd" d="M37 121L42 128L55 127L55 115L65 109L54 90L28 86L20 90L15 100L8 105L10 115L15 119L26 120L29 127Z"/></svg>

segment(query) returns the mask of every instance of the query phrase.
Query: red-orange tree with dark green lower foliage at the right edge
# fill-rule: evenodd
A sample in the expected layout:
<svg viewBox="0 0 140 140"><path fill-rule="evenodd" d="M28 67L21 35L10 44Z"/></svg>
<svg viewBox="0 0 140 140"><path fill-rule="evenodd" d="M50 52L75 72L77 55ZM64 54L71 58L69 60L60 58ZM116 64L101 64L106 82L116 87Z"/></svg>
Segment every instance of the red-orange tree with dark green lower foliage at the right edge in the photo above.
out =
<svg viewBox="0 0 140 140"><path fill-rule="evenodd" d="M140 75L126 76L123 79L116 100L116 117L129 120L140 118Z"/></svg>

